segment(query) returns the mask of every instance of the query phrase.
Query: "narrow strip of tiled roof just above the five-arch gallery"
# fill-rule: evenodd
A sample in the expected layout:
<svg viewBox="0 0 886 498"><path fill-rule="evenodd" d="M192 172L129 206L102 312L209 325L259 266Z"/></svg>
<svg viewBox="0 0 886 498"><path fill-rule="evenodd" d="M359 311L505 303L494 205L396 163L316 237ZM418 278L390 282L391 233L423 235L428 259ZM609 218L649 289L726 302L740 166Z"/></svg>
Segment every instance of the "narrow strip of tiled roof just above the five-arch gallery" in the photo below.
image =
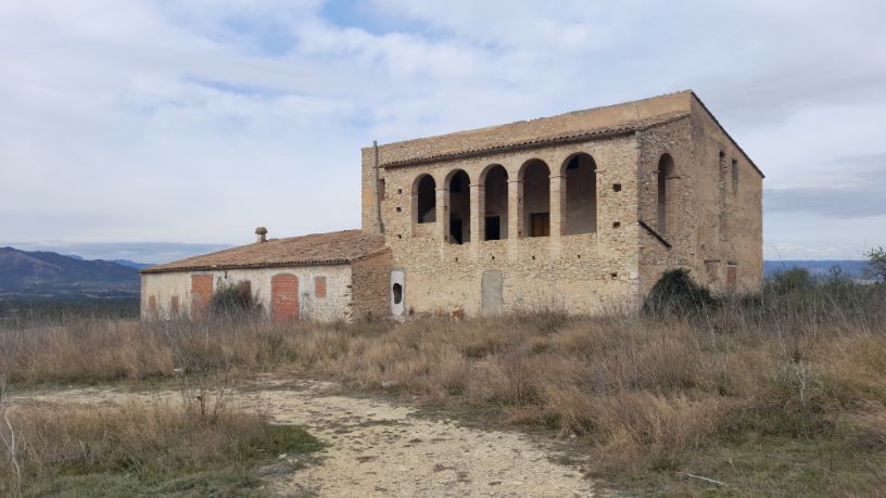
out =
<svg viewBox="0 0 886 498"><path fill-rule="evenodd" d="M623 133L631 133L634 131L643 130L646 128L650 128L653 126L663 125L667 123L671 123L678 119L682 119L684 117L688 117L688 112L672 112L667 114L660 114L658 116L638 119L628 123L621 123L613 126L603 126L597 128L591 128L585 130L578 130L578 131L570 131L567 133L558 133L552 135L547 137L533 137L527 140L517 140L517 141L503 141L499 143L495 143L492 145L486 146L479 146L473 149L463 149L463 150L452 150L446 152L438 152L434 154L428 155L419 155L415 157L408 157L405 159L400 161L391 161L388 163L382 162L379 166L382 168L394 168L398 166L412 166L416 164L423 164L423 163L435 163L439 161L451 161L451 159L459 159L465 157L473 157L478 155L485 155L490 153L498 153L498 152L510 152L521 149L532 149L536 146L547 146L554 145L558 143L571 143L571 142L579 142L582 140L590 140L594 138L603 138L603 137L611 137L618 136ZM505 125L511 126L511 125Z"/></svg>

